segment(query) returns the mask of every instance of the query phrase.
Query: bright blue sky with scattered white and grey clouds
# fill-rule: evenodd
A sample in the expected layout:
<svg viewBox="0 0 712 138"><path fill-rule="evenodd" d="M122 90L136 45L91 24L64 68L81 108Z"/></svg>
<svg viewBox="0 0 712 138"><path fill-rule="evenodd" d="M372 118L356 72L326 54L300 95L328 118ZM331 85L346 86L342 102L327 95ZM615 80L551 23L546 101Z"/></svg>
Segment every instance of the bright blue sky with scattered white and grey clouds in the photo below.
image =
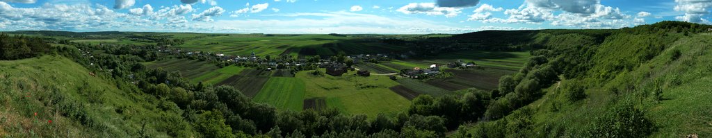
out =
<svg viewBox="0 0 712 138"><path fill-rule="evenodd" d="M0 31L468 33L711 24L712 0L0 0Z"/></svg>

